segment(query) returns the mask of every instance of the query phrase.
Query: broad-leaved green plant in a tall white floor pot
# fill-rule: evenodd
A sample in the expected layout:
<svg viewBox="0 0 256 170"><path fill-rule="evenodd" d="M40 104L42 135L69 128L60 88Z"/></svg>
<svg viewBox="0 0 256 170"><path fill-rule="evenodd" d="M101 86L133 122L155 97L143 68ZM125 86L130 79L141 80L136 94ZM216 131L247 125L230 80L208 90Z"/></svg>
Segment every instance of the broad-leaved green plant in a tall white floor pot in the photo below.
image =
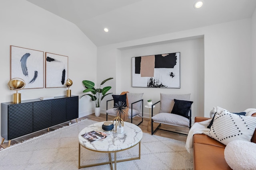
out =
<svg viewBox="0 0 256 170"><path fill-rule="evenodd" d="M83 84L85 86L85 90L83 91L84 93L86 92L91 92L92 94L84 94L88 95L91 97L92 101L95 102L95 116L99 117L100 116L100 102L102 101L102 99L107 96L108 94L112 94L112 93L107 93L108 90L111 89L110 86L106 86L104 88L101 89L101 85L104 84L106 81L111 80L113 78L108 78L104 81L101 82L100 87L96 88L94 82L89 81L89 80L83 80ZM83 97L81 96L81 98Z"/></svg>

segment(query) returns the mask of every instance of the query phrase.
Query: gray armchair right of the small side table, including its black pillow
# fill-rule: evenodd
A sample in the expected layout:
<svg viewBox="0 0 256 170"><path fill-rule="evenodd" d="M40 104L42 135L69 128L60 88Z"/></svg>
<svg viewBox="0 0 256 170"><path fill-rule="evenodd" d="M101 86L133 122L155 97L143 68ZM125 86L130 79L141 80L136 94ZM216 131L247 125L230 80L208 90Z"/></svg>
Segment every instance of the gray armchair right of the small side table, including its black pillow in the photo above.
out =
<svg viewBox="0 0 256 170"><path fill-rule="evenodd" d="M160 93L160 101L152 105L152 121L151 134L160 129L160 125L175 125L179 127L191 128L191 105L190 94L163 94ZM153 106L160 103L159 113L153 115ZM153 122L160 123L156 129L153 127ZM160 129L169 131L166 129ZM176 131L171 131L179 133ZM184 134L184 133L181 133ZM185 134L187 135L187 134Z"/></svg>

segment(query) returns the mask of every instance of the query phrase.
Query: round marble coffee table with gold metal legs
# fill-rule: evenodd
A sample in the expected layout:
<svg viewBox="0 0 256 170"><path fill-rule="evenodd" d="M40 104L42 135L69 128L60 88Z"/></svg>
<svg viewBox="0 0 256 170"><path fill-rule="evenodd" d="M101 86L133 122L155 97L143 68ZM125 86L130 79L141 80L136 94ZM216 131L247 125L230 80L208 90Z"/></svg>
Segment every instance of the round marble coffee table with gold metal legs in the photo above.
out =
<svg viewBox="0 0 256 170"><path fill-rule="evenodd" d="M99 123L94 123L86 128L84 128L82 131L80 131L78 135L79 140L79 158L78 158L78 169L80 168L86 168L90 166L98 166L98 165L104 165L104 164L110 164L111 169L113 169L113 163L115 164L115 170L116 170L116 162L124 162L128 160L135 160L140 159L140 141L142 139L142 130L137 125L134 125L129 122L124 122L124 132L122 134L116 133L116 131L113 131L106 139L103 141L94 141L93 143L90 143L86 139L84 139L81 135L88 133L90 131L103 131L102 130L102 124L104 121ZM115 125L114 125L115 129ZM128 158L123 160L116 160L116 152L120 152L126 149L130 149L134 146L139 144L139 156L134 158ZM92 150L94 152L104 152L108 153L110 161L108 162L101 162L97 164L89 164L89 165L80 165L80 152L81 152L81 146ZM114 161L112 161L111 154L114 153Z"/></svg>

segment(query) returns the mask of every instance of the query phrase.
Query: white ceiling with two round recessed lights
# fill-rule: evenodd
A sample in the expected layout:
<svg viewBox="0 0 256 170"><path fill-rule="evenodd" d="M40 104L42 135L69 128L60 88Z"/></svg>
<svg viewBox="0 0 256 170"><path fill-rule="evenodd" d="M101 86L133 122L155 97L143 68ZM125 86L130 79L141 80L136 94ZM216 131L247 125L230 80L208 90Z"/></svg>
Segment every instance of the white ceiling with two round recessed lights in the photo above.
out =
<svg viewBox="0 0 256 170"><path fill-rule="evenodd" d="M96 46L250 18L256 8L256 0L204 0L199 9L197 0L27 1L76 24Z"/></svg>

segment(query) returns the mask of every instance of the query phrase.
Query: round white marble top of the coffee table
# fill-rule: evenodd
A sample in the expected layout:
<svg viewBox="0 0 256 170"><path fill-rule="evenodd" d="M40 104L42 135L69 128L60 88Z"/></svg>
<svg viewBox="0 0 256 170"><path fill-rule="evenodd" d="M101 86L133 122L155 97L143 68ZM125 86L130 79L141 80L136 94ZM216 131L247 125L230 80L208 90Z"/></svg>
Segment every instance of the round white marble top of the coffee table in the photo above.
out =
<svg viewBox="0 0 256 170"><path fill-rule="evenodd" d="M104 121L94 123L80 131L78 135L79 143L90 150L111 152L128 149L139 143L140 140L142 139L143 133L140 127L129 122L124 122L124 132L122 134L116 133L116 131L114 131L114 125L113 131L111 131L110 135L106 137L103 141L98 140L90 143L89 141L84 139L84 137L81 136L90 131L103 132L103 123Z"/></svg>

